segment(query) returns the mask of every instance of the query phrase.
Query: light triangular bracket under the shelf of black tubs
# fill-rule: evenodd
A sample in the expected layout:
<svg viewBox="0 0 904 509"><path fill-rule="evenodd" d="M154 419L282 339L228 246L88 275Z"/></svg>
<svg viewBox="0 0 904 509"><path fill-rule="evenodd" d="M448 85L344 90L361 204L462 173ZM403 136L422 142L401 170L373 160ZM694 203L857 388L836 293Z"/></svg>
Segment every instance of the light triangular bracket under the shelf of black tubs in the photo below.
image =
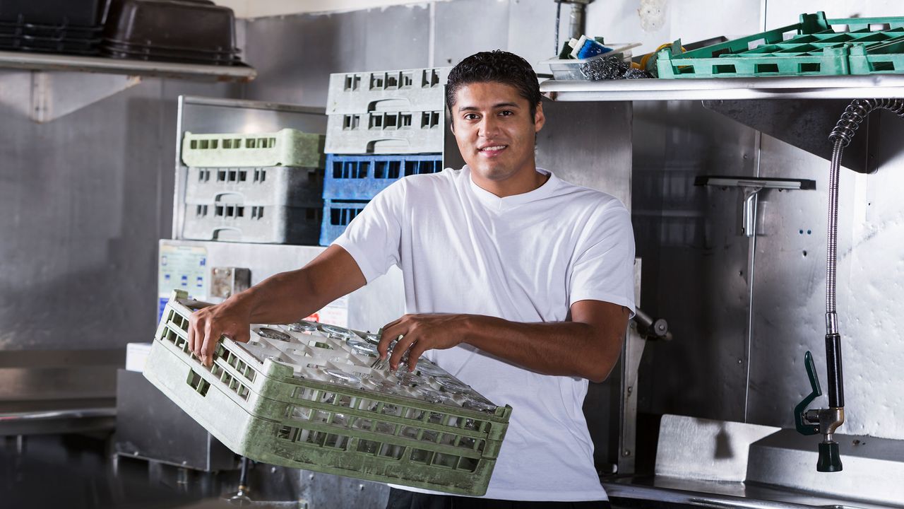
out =
<svg viewBox="0 0 904 509"><path fill-rule="evenodd" d="M64 71L0 72L0 104L38 123L59 119L141 82L139 76Z"/></svg>

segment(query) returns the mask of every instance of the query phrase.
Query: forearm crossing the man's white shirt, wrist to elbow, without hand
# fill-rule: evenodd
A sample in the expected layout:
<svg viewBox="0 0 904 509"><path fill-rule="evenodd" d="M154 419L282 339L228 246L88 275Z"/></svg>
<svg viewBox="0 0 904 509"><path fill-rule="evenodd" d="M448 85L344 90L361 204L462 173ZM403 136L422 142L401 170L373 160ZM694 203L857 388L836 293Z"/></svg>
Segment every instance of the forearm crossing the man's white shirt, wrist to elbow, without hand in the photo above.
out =
<svg viewBox="0 0 904 509"><path fill-rule="evenodd" d="M508 322L465 315L464 342L546 375L602 381L621 353L625 329L598 331L589 323ZM611 328L610 328L611 329Z"/></svg>

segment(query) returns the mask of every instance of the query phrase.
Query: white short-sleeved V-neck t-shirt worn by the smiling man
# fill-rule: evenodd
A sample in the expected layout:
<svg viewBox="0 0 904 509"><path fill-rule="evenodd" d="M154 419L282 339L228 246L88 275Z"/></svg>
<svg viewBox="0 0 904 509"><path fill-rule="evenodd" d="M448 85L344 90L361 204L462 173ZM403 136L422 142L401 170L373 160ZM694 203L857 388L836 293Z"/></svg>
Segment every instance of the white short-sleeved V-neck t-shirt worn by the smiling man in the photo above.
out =
<svg viewBox="0 0 904 509"><path fill-rule="evenodd" d="M634 311L628 211L615 197L552 174L531 192L502 198L478 187L468 167L402 178L374 197L335 244L368 282L398 265L409 313L564 322L572 303L588 299ZM607 498L581 410L587 379L541 375L467 344L426 356L513 408L485 497Z"/></svg>

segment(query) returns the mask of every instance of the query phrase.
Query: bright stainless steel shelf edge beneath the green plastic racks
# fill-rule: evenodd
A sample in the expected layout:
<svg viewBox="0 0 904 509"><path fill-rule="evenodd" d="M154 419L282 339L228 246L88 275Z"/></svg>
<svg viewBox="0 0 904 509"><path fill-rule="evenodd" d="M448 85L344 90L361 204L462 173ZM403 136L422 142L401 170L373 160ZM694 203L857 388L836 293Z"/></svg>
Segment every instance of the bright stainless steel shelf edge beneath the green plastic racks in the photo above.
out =
<svg viewBox="0 0 904 509"><path fill-rule="evenodd" d="M904 74L685 80L548 80L553 101L702 101L904 97Z"/></svg>

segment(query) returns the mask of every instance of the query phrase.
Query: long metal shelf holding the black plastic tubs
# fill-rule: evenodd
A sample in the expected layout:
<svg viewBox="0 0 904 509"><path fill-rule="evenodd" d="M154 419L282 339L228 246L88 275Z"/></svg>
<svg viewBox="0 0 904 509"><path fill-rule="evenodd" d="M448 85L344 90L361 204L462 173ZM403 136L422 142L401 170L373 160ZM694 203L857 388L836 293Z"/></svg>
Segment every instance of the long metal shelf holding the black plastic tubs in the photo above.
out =
<svg viewBox="0 0 904 509"><path fill-rule="evenodd" d="M144 62L93 56L0 52L0 69L30 71L100 72L216 82L250 82L258 72L247 65L199 65Z"/></svg>

